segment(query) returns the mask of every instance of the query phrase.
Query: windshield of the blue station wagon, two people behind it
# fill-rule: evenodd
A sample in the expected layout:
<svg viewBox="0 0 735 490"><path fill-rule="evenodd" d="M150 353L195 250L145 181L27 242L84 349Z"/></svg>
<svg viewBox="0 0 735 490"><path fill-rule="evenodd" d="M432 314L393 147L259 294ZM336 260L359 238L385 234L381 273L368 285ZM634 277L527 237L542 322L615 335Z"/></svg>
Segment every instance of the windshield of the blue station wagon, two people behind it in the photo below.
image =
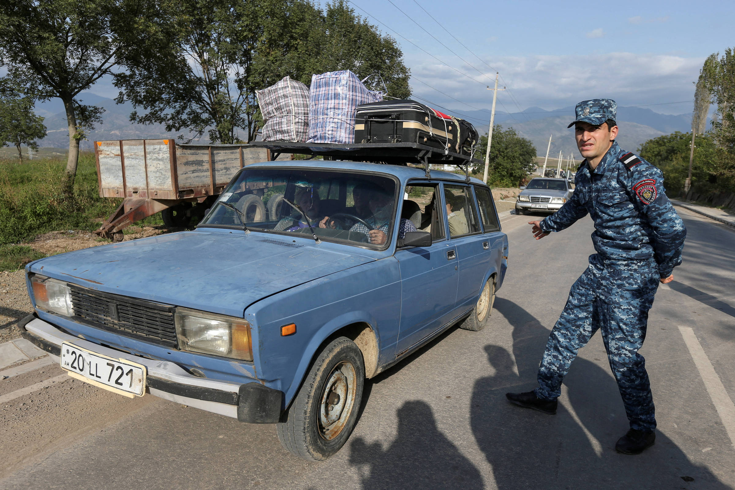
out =
<svg viewBox="0 0 735 490"><path fill-rule="evenodd" d="M381 230L390 242L396 185L386 176L293 168L243 169L199 226L242 228L229 203L250 230L315 234L320 239L368 242ZM292 203L291 206L288 202ZM298 209L296 209L298 208ZM304 213L302 214L301 211Z"/></svg>

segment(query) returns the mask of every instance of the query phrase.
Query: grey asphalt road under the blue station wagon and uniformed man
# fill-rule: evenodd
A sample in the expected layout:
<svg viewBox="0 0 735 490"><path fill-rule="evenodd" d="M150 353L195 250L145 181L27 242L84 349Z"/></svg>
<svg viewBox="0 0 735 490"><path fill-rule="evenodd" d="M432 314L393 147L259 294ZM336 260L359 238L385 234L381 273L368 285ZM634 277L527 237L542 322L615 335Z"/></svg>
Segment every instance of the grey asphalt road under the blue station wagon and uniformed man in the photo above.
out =
<svg viewBox="0 0 735 490"><path fill-rule="evenodd" d="M628 422L599 334L573 364L555 416L506 402L506 392L534 387L548 332L593 253L589 218L534 241L528 217L510 216L491 325L451 329L367 383L356 429L329 461L294 458L270 425L70 380L1 404L0 488L733 488L735 230L679 212L684 264L656 295L641 351L659 421L642 455L613 449ZM59 373L1 381L0 395Z"/></svg>

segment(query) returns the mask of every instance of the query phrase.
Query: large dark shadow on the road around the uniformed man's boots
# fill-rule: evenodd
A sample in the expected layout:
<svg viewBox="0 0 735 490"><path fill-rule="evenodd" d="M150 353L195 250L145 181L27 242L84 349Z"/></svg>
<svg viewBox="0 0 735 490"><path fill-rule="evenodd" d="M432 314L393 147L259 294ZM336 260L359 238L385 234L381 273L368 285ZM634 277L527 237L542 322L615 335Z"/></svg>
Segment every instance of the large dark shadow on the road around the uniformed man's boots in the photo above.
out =
<svg viewBox="0 0 735 490"><path fill-rule="evenodd" d="M656 445L642 455L616 453L617 438L628 430L617 384L608 370L586 359L574 361L564 380L568 396L562 395L556 415L508 403L506 392L536 386L549 331L510 300L497 298L495 309L513 325L513 357L503 347L485 347L495 374L476 381L470 423L498 489L729 488L660 430ZM696 486L682 477L694 478Z"/></svg>

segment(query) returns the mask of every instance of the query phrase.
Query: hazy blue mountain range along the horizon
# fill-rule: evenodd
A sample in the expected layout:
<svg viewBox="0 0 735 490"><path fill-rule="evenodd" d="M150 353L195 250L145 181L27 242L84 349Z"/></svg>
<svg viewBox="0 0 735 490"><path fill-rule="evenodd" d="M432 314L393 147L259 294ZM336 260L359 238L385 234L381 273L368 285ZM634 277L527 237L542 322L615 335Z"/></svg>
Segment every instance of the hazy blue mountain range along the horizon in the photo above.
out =
<svg viewBox="0 0 735 490"><path fill-rule="evenodd" d="M98 124L94 131L90 131L87 141L82 141L82 148L91 149L95 140L137 140L142 138L176 138L177 134L166 132L163 126L133 124L129 120L132 104L115 104L111 98L96 96L93 93L82 93L79 96L83 104L95 105L105 109L102 118L104 123ZM443 109L442 109L443 110ZM37 104L37 115L46 120L44 123L49 133L39 143L44 147L67 148L69 144L66 115L61 101L57 98ZM486 134L490 123L489 110L448 111L459 118L465 118L473 123L480 134ZM507 114L495 113L495 123L504 127L512 126L518 134L528 138L536 146L538 155L546 154L549 136L553 135L549 156L556 157L559 151L564 156L573 154L576 157L577 149L574 143L573 129L567 129L567 124L573 120L574 107L547 111L540 107L529 107L523 112ZM637 151L639 146L651 138L669 134L673 131L687 132L692 127L692 115L667 115L653 112L643 107L619 107L617 109L620 126L618 142L628 151ZM207 140L206 137L203 140Z"/></svg>

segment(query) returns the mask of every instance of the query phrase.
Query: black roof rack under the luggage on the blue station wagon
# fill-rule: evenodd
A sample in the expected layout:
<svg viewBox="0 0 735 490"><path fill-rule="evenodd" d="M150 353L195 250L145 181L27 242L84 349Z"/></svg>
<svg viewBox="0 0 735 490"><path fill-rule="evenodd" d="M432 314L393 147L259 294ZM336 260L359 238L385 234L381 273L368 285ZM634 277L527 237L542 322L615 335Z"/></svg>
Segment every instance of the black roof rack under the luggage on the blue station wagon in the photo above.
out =
<svg viewBox="0 0 735 490"><path fill-rule="evenodd" d="M469 155L445 151L419 143L293 143L290 141L251 141L250 145L268 148L275 160L282 153L323 156L325 160L348 159L389 165L423 165L426 176L431 176L429 165L457 165L463 167L467 181L469 166L481 160Z"/></svg>

